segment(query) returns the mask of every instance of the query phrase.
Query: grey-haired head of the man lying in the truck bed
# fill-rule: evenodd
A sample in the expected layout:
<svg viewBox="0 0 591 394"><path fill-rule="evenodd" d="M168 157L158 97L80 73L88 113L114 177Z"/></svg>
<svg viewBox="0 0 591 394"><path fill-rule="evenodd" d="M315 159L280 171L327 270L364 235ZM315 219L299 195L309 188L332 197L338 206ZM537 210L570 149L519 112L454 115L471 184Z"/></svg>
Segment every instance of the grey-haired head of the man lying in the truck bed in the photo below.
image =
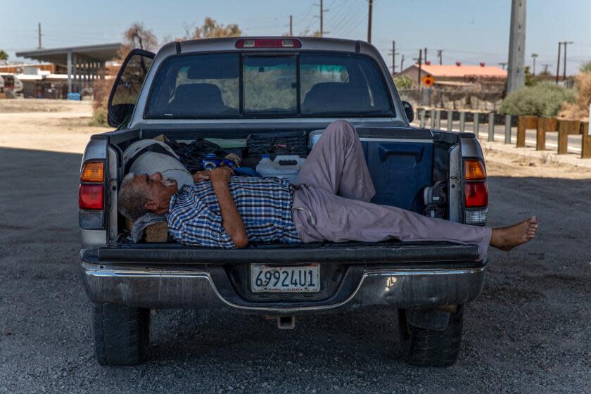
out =
<svg viewBox="0 0 591 394"><path fill-rule="evenodd" d="M166 213L176 192L177 181L163 177L160 172L150 176L129 172L121 182L117 205L123 216L136 220L148 212Z"/></svg>

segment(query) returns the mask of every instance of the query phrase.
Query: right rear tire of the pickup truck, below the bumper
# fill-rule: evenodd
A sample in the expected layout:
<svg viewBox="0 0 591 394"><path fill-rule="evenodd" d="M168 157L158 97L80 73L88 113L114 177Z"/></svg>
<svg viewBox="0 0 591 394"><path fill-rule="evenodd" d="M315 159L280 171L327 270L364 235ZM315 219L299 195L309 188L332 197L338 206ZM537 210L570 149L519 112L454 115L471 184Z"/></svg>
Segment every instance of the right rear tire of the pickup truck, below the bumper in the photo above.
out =
<svg viewBox="0 0 591 394"><path fill-rule="evenodd" d="M464 305L450 313L445 329L424 329L409 323L407 311L398 310L398 328L402 357L419 367L449 367L454 364L462 343Z"/></svg>

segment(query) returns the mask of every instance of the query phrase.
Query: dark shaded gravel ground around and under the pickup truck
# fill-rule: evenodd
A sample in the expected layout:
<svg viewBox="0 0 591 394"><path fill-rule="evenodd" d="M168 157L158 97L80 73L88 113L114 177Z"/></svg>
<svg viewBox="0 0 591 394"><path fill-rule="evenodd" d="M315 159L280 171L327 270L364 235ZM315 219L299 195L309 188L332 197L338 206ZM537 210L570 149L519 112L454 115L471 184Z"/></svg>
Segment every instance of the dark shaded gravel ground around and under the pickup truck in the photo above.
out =
<svg viewBox="0 0 591 394"><path fill-rule="evenodd" d="M402 362L395 311L305 317L159 311L148 361L100 367L78 278L80 155L0 148L0 393L589 393L590 180L490 177L491 224L540 216L490 252L457 364Z"/></svg>

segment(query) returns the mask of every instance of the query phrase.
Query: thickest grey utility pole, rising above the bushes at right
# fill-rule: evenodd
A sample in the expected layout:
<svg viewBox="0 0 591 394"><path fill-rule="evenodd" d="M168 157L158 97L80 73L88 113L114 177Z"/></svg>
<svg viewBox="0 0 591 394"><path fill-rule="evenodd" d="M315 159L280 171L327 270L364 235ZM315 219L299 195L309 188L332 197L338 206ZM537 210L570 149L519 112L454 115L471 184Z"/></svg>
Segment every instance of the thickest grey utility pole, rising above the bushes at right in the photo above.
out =
<svg viewBox="0 0 591 394"><path fill-rule="evenodd" d="M509 32L509 64L507 65L507 94L525 85L523 68L526 63L526 0L511 0L511 30Z"/></svg>

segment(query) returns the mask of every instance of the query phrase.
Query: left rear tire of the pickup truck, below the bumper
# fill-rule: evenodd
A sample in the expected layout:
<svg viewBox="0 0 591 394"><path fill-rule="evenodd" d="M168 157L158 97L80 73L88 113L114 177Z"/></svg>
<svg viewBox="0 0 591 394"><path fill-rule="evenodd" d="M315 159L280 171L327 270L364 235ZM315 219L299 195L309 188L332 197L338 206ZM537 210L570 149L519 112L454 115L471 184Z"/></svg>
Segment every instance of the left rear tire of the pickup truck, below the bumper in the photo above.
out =
<svg viewBox="0 0 591 394"><path fill-rule="evenodd" d="M101 365L135 365L146 359L150 310L118 304L92 304L92 334Z"/></svg>

